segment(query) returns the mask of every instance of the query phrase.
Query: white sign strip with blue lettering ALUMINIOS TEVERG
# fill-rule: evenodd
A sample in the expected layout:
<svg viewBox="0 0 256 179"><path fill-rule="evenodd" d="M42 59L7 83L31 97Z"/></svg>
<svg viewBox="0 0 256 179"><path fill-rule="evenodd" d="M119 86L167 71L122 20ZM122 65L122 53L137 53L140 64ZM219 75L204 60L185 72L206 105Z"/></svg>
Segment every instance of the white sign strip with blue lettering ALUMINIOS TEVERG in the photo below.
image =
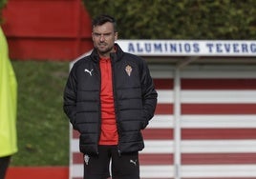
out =
<svg viewBox="0 0 256 179"><path fill-rule="evenodd" d="M141 56L256 56L249 40L117 40L122 50Z"/></svg>

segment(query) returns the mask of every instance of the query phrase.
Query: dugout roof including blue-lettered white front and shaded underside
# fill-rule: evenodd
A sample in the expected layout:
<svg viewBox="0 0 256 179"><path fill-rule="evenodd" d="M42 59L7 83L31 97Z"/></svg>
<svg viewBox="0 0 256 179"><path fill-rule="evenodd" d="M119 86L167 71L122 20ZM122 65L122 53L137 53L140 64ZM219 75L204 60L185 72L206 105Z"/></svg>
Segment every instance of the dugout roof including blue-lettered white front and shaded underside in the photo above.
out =
<svg viewBox="0 0 256 179"><path fill-rule="evenodd" d="M117 40L122 50L150 64L256 64L256 41Z"/></svg>

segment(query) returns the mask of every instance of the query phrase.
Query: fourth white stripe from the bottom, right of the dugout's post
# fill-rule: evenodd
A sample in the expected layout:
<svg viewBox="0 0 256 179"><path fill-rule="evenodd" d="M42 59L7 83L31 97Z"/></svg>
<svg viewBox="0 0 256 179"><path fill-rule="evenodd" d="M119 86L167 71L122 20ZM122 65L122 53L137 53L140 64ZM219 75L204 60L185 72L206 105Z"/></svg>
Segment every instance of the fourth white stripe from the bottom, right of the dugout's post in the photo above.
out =
<svg viewBox="0 0 256 179"><path fill-rule="evenodd" d="M181 90L181 103L256 103L255 90Z"/></svg>

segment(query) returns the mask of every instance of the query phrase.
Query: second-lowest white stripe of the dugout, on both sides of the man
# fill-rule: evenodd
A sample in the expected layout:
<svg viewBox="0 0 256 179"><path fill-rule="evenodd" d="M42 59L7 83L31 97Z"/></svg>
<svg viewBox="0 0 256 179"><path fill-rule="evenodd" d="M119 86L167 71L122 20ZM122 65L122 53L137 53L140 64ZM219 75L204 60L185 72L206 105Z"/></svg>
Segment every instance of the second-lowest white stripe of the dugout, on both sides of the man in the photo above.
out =
<svg viewBox="0 0 256 179"><path fill-rule="evenodd" d="M145 140L142 153L173 153L172 140ZM72 151L79 152L78 140L72 140ZM219 153L219 152L255 152L256 140L182 140L181 152Z"/></svg>

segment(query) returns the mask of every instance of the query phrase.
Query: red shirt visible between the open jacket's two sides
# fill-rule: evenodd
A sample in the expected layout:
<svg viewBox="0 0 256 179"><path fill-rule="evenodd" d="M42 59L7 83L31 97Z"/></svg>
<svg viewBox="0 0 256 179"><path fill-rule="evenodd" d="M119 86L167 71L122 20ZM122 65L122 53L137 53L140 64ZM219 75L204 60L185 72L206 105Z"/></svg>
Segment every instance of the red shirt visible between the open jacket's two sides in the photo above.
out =
<svg viewBox="0 0 256 179"><path fill-rule="evenodd" d="M99 61L101 72L101 133L99 145L117 145L117 121L114 107L112 67L110 58Z"/></svg>

